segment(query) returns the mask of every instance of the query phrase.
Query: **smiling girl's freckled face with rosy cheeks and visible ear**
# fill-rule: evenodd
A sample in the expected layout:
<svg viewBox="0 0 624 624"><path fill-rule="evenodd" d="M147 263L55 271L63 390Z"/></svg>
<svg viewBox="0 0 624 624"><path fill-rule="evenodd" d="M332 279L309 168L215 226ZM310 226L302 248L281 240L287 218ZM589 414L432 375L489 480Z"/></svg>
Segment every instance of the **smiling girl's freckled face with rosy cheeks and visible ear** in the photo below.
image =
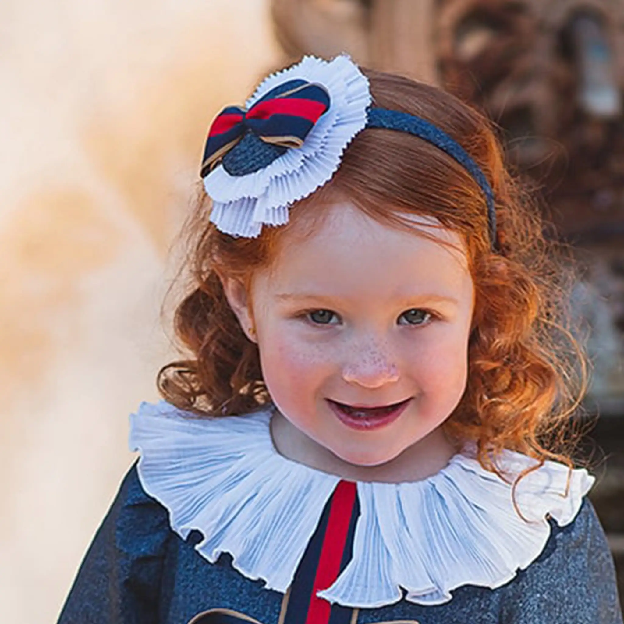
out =
<svg viewBox="0 0 624 624"><path fill-rule="evenodd" d="M431 218L414 222L455 248L337 203L312 235L285 236L251 298L224 281L304 463L314 449L389 462L425 447L461 399L474 298L464 246Z"/></svg>

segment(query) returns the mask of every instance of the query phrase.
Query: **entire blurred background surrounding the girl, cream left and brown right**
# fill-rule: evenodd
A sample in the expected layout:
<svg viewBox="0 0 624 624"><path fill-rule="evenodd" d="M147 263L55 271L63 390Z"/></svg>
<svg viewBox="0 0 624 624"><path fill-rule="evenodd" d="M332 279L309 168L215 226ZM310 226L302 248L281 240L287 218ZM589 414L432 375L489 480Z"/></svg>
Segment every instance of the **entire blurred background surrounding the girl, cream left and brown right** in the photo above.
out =
<svg viewBox="0 0 624 624"><path fill-rule="evenodd" d="M132 461L210 120L307 52L450 89L541 189L583 266L624 583L624 0L4 0L0 34L2 622L54 622Z"/></svg>

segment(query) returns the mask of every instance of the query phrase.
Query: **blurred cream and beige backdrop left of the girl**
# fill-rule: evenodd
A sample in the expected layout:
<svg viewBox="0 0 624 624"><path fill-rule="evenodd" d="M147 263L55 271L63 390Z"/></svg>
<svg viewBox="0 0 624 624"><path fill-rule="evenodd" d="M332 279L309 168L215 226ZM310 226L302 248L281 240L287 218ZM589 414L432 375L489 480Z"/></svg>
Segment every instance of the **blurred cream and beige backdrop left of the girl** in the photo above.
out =
<svg viewBox="0 0 624 624"><path fill-rule="evenodd" d="M267 5L0 3L0 622L54 622L132 461L208 123L279 62Z"/></svg>

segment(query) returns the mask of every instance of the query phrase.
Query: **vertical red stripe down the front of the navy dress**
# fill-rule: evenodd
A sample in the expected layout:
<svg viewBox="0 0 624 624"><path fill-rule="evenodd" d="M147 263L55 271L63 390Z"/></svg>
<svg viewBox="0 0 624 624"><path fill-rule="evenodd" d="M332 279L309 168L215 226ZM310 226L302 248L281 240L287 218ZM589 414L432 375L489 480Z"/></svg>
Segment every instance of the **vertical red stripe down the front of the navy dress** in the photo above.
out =
<svg viewBox="0 0 624 624"><path fill-rule="evenodd" d="M336 486L305 624L329 622L331 603L319 598L316 592L327 589L338 578L356 493L357 485L352 481L340 481Z"/></svg>

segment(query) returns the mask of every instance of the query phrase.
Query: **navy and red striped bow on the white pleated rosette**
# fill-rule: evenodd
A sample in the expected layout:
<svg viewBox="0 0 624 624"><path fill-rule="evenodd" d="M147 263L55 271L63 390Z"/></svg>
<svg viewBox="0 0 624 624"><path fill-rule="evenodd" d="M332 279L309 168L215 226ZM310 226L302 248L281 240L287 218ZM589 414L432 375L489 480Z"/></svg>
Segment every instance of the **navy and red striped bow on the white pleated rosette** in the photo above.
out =
<svg viewBox="0 0 624 624"><path fill-rule="evenodd" d="M249 130L265 143L301 147L314 124L328 109L327 90L302 79L288 80L274 87L249 110L228 106L217 115L208 131L202 178Z"/></svg>

